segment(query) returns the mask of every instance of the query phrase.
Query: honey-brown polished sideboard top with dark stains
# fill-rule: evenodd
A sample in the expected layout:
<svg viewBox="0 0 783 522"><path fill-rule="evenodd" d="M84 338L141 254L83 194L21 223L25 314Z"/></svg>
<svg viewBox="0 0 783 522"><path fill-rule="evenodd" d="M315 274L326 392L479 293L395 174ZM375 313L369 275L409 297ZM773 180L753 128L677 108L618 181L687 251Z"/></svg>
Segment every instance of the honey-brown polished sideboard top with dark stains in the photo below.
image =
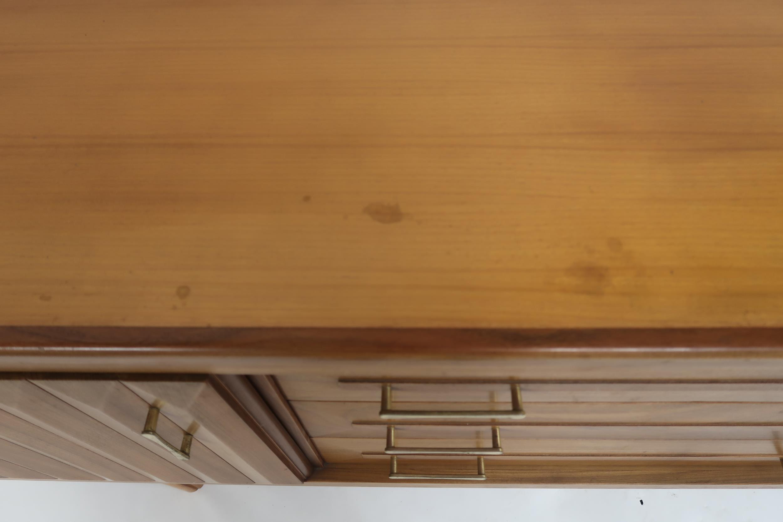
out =
<svg viewBox="0 0 783 522"><path fill-rule="evenodd" d="M0 324L783 326L778 0L0 0L0 34Z"/></svg>

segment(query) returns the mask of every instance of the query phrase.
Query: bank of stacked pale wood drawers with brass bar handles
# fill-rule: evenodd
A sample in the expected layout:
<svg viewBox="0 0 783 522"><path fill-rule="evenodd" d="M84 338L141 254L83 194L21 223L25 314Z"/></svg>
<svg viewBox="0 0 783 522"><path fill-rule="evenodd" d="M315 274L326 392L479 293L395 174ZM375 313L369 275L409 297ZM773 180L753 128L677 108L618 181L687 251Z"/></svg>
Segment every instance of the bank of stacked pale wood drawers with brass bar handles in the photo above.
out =
<svg viewBox="0 0 783 522"><path fill-rule="evenodd" d="M357 476L373 470L375 481L381 482L390 474L414 480L420 472L436 483L445 480L438 474L453 474L485 478L490 484L503 477L510 484L520 480L516 471L527 469L519 466L547 459L622 460L634 466L651 460L694 461L704 467L713 461L779 462L783 454L780 381L277 379L333 466L316 480L350 469L341 466L355 466ZM386 385L391 392L384 395ZM515 386L524 418L511 415L516 411ZM464 414L448 413L454 411ZM385 449L391 426L396 457ZM493 427L500 437L493 437ZM722 479L726 483L732 480L731 469L721 468L728 473ZM499 474L490 479L491 473ZM709 473L699 480L708 483Z"/></svg>

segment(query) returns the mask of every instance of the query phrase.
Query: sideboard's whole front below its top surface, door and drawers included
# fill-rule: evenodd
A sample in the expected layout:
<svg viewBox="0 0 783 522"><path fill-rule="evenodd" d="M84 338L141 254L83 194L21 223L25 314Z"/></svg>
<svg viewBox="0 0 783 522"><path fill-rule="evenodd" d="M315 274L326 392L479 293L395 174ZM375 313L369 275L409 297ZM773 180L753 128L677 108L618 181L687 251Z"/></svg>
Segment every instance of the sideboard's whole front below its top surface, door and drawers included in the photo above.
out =
<svg viewBox="0 0 783 522"><path fill-rule="evenodd" d="M0 376L0 474L188 488L778 487L781 337L6 327L0 364L16 372Z"/></svg>

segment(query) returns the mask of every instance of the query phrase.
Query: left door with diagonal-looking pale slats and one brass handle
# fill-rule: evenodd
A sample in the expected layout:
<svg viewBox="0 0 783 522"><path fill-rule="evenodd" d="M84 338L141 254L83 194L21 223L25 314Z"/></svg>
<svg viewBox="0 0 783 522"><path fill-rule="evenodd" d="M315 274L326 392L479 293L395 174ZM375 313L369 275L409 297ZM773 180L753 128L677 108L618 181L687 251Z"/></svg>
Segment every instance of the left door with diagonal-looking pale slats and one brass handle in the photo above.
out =
<svg viewBox="0 0 783 522"><path fill-rule="evenodd" d="M0 476L300 484L248 408L212 377L0 380Z"/></svg>

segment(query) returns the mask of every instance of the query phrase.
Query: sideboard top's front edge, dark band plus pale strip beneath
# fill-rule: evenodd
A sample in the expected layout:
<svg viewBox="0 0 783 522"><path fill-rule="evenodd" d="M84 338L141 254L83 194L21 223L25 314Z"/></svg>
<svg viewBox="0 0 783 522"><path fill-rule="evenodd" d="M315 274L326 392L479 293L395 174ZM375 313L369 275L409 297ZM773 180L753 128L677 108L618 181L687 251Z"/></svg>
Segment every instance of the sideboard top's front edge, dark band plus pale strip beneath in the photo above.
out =
<svg viewBox="0 0 783 522"><path fill-rule="evenodd" d="M379 363L429 376L448 362L471 376L514 375L534 359L752 358L783 362L783 328L325 329L0 326L0 371L366 375ZM512 371L514 361L519 362ZM356 363L352 365L352 363ZM414 365L415 364L415 365ZM581 362L580 362L581 364ZM762 364L760 362L759 364ZM669 365L669 368L671 366ZM659 370L662 370L661 367ZM727 366L728 368L728 366ZM738 369L720 378L778 376ZM350 371L348 371L348 369ZM398 370L400 367L398 367ZM416 369L418 373L411 370ZM345 370L345 371L344 371ZM508 371L506 371L508 370ZM444 370L445 371L445 370ZM771 370L770 370L771 372ZM391 369L389 376L401 372ZM453 376L456 374L453 373ZM475 373L473 373L475 375ZM558 373L553 376L565 376ZM659 371L656 377L670 376Z"/></svg>

